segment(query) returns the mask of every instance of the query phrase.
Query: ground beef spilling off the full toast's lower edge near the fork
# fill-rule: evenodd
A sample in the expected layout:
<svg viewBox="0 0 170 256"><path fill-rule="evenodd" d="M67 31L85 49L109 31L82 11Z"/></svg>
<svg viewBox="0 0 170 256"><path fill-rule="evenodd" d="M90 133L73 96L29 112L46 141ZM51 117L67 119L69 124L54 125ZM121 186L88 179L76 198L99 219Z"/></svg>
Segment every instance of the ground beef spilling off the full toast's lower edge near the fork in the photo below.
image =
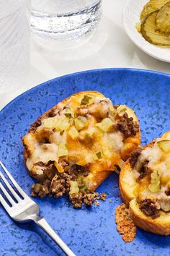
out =
<svg viewBox="0 0 170 256"><path fill-rule="evenodd" d="M53 195L54 197L61 197L64 194L69 195L69 199L73 205L73 208L81 208L83 202L85 205L92 205L94 201L95 193L83 194L69 194L70 182L75 181L79 174L83 176L88 175L87 166L71 166L63 173L59 173L55 168L53 162L50 162L47 166L44 163L39 162L39 165L43 169L45 179L39 184L32 185L32 196L45 197L46 195ZM61 161L62 166L67 166L65 161Z"/></svg>

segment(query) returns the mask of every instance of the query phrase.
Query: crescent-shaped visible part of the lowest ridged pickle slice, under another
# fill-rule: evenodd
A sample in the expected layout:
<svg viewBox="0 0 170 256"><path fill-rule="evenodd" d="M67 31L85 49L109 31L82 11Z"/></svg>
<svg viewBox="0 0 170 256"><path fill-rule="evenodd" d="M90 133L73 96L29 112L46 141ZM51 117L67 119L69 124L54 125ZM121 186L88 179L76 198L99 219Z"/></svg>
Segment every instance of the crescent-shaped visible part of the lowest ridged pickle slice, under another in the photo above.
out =
<svg viewBox="0 0 170 256"><path fill-rule="evenodd" d="M141 25L141 34L149 43L153 43L157 46L170 46L170 38L168 35L164 35L156 31L156 16L158 11L148 14L143 20Z"/></svg>

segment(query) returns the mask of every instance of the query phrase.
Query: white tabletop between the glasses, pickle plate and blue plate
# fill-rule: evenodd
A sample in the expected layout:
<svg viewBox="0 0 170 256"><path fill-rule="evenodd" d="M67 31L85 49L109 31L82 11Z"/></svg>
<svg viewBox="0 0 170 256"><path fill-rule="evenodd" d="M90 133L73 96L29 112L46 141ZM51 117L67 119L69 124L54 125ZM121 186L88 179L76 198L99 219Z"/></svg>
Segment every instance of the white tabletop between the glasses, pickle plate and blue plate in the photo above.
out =
<svg viewBox="0 0 170 256"><path fill-rule="evenodd" d="M122 27L125 1L103 0L103 16L97 32L78 48L50 51L32 40L26 81L22 88L0 96L0 110L25 90L63 74L107 67L133 67L169 73L170 64L140 51L126 35Z"/></svg>

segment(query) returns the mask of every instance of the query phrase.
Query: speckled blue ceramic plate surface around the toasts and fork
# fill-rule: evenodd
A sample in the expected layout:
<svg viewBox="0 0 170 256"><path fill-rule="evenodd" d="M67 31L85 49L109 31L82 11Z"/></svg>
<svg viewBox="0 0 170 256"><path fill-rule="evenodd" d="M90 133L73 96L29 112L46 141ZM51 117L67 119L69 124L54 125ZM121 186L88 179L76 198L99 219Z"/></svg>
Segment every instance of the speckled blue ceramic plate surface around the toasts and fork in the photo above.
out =
<svg viewBox="0 0 170 256"><path fill-rule="evenodd" d="M32 178L24 168L22 137L37 116L73 93L99 90L114 104L133 108L140 120L142 144L170 128L170 76L138 69L99 69L59 77L20 95L0 112L0 159L30 195ZM118 176L109 176L98 192L107 200L75 210L68 198L35 198L44 216L76 255L169 255L170 236L138 229L131 243L116 231L115 208L120 204ZM109 202L112 200L112 202ZM14 223L0 205L0 255L63 255L35 224Z"/></svg>

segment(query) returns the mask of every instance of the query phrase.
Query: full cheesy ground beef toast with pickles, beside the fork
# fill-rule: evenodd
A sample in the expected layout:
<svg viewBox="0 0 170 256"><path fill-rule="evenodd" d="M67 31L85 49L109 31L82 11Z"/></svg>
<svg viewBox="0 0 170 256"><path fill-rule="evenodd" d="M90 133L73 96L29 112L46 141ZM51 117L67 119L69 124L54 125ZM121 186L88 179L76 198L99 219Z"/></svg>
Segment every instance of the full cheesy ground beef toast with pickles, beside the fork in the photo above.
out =
<svg viewBox="0 0 170 256"><path fill-rule="evenodd" d="M69 195L74 208L91 205L94 190L140 144L138 119L94 91L76 93L42 114L23 137L32 195Z"/></svg>

